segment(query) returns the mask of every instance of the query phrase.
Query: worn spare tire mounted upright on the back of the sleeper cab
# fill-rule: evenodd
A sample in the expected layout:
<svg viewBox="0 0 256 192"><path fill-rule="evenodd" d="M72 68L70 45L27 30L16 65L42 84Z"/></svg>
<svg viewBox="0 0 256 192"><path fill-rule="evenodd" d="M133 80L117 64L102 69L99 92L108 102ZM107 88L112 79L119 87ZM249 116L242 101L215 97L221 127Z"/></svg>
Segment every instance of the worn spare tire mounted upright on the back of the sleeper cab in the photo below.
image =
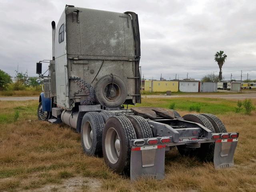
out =
<svg viewBox="0 0 256 192"><path fill-rule="evenodd" d="M124 104L127 88L124 81L113 74L103 76L96 83L95 97L99 104L106 107L119 107Z"/></svg>

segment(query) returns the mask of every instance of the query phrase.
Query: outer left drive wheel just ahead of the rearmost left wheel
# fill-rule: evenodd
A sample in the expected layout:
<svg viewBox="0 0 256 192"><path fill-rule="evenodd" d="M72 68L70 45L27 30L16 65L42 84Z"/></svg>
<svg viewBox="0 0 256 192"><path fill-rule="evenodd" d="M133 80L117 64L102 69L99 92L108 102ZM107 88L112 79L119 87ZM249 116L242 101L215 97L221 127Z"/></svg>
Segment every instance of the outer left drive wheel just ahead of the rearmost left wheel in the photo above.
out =
<svg viewBox="0 0 256 192"><path fill-rule="evenodd" d="M84 152L91 156L102 156L102 131L104 120L98 112L87 112L81 124L81 142Z"/></svg>

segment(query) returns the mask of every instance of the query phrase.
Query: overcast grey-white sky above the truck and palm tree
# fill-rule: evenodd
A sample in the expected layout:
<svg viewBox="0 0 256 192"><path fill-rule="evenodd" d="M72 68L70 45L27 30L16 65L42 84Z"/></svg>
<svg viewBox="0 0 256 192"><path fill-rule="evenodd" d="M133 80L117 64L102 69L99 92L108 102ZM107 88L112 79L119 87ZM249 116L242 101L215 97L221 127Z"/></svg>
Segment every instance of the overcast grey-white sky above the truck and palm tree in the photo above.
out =
<svg viewBox="0 0 256 192"><path fill-rule="evenodd" d="M50 59L51 22L65 4L138 14L142 75L147 79L200 79L218 75L216 51L227 60L222 71L240 80L256 79L255 0L0 0L0 69L15 76L28 70L36 76L36 62ZM46 66L46 64L45 64Z"/></svg>

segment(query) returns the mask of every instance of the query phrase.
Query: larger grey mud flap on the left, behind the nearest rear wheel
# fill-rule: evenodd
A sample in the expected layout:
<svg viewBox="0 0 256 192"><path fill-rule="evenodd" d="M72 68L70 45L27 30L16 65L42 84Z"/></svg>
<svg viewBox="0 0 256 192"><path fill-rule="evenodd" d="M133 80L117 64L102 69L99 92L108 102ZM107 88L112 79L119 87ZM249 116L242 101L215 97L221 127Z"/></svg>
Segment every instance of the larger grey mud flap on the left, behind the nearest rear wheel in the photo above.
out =
<svg viewBox="0 0 256 192"><path fill-rule="evenodd" d="M130 178L164 178L165 146L132 147Z"/></svg>

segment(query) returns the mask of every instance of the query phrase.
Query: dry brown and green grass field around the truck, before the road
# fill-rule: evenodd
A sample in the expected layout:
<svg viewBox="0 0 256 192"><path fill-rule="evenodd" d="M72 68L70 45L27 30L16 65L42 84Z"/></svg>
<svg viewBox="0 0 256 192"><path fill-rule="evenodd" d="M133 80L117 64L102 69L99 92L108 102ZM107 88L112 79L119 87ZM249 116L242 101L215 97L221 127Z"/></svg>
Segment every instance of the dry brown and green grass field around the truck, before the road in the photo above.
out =
<svg viewBox="0 0 256 192"><path fill-rule="evenodd" d="M138 106L168 108L172 102L181 115L196 103L201 112L217 114L229 132L240 132L234 168L215 170L213 163L181 157L173 148L164 180L131 182L109 170L103 158L86 156L79 134L68 126L39 122L37 101L0 101L0 191L255 192L256 112L236 114L235 101L210 98L145 98Z"/></svg>

